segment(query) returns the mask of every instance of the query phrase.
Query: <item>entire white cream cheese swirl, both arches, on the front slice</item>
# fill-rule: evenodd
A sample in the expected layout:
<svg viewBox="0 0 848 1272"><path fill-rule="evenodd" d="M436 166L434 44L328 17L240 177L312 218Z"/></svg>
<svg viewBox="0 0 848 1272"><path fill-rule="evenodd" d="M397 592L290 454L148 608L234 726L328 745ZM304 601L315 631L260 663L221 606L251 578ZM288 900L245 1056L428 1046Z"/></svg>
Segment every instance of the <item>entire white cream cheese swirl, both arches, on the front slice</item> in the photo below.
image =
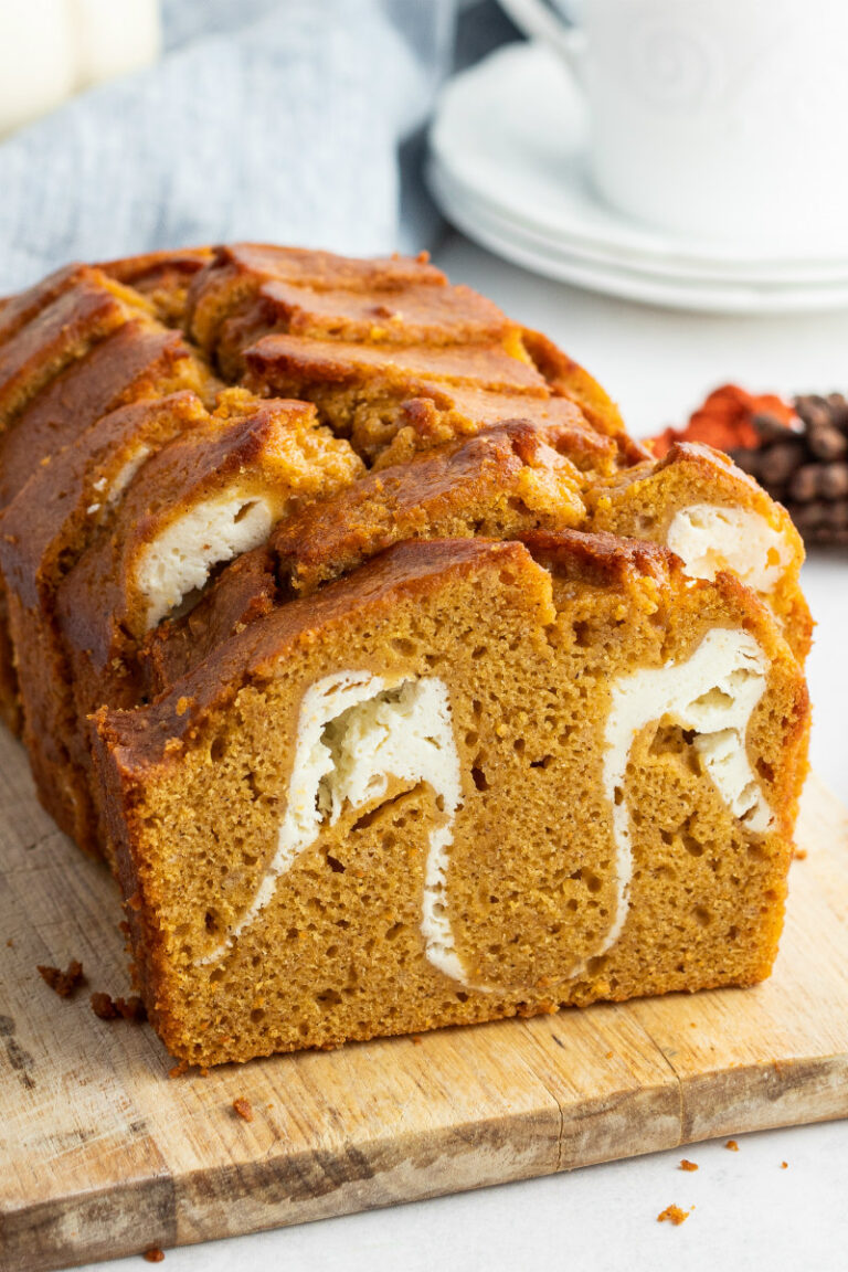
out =
<svg viewBox="0 0 848 1272"><path fill-rule="evenodd" d="M732 815L754 833L772 827L774 818L746 753L748 726L765 691L767 672L765 655L749 632L717 628L685 661L632 672L613 683L603 782L617 899L596 954L614 945L627 921L633 846L624 784L633 742L647 725L669 716L693 730L693 745ZM436 798L439 818L428 832L421 909L426 957L453 981L488 992L488 986L470 983L449 917L448 868L463 796L448 686L439 677L337 672L305 692L276 852L247 909L198 963L219 960L271 902L280 876L315 843L323 827L334 826L346 809L379 805L389 778L409 789L426 782Z"/></svg>

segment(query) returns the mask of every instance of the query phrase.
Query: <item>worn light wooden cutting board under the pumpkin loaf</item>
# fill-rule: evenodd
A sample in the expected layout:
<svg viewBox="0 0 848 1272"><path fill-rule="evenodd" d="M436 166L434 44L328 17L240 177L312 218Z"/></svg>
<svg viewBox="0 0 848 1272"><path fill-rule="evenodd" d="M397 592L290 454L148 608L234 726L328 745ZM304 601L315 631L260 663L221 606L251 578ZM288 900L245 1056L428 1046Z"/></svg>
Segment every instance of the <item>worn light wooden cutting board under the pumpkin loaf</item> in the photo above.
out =
<svg viewBox="0 0 848 1272"><path fill-rule="evenodd" d="M773 977L170 1079L118 897L0 738L0 1267L65 1267L848 1114L848 820L812 778ZM57 999L36 964L81 959ZM252 1122L233 1100L247 1096Z"/></svg>

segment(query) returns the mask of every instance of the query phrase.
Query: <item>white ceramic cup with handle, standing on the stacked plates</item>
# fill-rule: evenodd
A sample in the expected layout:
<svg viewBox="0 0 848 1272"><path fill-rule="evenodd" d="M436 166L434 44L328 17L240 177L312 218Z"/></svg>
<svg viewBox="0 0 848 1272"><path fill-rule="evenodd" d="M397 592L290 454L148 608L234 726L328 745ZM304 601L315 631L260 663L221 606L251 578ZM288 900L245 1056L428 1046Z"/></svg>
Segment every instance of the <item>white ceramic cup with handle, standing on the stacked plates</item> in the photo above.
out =
<svg viewBox="0 0 848 1272"><path fill-rule="evenodd" d="M845 0L582 0L573 28L501 4L582 85L608 202L740 251L848 253Z"/></svg>

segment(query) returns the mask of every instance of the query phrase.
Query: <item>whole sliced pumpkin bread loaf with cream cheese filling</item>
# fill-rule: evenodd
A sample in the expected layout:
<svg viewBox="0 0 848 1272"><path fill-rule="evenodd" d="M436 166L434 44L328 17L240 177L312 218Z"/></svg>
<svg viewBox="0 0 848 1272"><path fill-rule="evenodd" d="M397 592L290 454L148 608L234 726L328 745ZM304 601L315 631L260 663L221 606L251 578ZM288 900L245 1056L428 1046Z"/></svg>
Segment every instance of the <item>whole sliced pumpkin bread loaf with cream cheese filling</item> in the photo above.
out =
<svg viewBox="0 0 848 1272"><path fill-rule="evenodd" d="M0 304L0 710L183 1060L767 976L801 560L425 257Z"/></svg>

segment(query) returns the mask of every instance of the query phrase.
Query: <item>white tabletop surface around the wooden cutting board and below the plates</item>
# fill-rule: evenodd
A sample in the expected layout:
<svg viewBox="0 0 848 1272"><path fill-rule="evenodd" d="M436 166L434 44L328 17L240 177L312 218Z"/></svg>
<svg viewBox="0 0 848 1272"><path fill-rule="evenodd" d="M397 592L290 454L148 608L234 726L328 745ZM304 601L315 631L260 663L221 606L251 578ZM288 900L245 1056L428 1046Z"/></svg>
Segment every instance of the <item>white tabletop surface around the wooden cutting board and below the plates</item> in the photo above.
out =
<svg viewBox="0 0 848 1272"><path fill-rule="evenodd" d="M540 327L618 397L633 431L680 421L721 380L778 392L844 388L848 314L716 319L624 304L542 281L460 238L439 253ZM848 803L848 552L815 553L812 758ZM804 862L793 869L802 870ZM248 1070L245 1070L248 1072ZM845 1266L843 1122L741 1136L571 1174L168 1250L165 1272L825 1272ZM699 1170L678 1170L681 1156ZM788 1169L781 1169L781 1161ZM669 1205L694 1213L657 1224ZM139 1249L146 1234L139 1233ZM137 1272L137 1258L92 1264Z"/></svg>

